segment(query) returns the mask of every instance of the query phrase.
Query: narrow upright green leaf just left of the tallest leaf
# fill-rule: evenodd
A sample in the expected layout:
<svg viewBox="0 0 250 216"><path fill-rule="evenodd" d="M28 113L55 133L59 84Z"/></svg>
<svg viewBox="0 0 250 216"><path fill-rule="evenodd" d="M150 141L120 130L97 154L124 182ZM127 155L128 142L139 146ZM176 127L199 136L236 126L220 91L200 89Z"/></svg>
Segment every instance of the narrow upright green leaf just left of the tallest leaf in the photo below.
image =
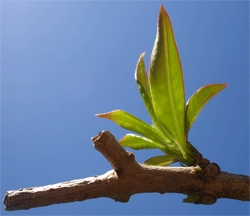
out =
<svg viewBox="0 0 250 216"><path fill-rule="evenodd" d="M173 143L174 138L170 132L164 127L161 121L157 118L152 105L152 99L149 89L148 76L145 70L145 65L143 61L145 53L140 55L139 61L136 66L135 80L140 91L143 102L148 110L149 115L152 118L153 124L156 128L163 134L167 143Z"/></svg>

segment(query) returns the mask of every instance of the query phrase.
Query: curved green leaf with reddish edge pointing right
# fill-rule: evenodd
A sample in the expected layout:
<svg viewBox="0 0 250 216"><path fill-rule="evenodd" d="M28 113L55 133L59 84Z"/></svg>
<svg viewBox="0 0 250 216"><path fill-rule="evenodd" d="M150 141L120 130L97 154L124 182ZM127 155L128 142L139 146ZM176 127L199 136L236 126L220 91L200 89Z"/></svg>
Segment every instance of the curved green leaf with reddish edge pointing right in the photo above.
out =
<svg viewBox="0 0 250 216"><path fill-rule="evenodd" d="M188 100L186 105L186 133L190 130L202 108L227 84L210 84L198 89Z"/></svg>

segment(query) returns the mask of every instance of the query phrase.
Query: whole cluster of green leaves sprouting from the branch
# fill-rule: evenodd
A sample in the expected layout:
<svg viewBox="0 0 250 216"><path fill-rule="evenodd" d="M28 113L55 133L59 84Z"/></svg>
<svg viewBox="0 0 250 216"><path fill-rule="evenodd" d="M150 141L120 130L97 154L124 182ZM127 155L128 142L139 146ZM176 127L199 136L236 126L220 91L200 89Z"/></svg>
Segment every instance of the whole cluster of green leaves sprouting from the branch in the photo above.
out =
<svg viewBox="0 0 250 216"><path fill-rule="evenodd" d="M136 134L126 134L119 143L135 150L159 149L164 155L145 161L148 165L167 166L180 162L196 164L201 154L188 141L188 132L206 103L227 84L210 84L198 89L185 105L182 66L170 18L161 5L157 35L151 54L149 75L142 53L135 80L152 119L152 125L123 110L96 114Z"/></svg>

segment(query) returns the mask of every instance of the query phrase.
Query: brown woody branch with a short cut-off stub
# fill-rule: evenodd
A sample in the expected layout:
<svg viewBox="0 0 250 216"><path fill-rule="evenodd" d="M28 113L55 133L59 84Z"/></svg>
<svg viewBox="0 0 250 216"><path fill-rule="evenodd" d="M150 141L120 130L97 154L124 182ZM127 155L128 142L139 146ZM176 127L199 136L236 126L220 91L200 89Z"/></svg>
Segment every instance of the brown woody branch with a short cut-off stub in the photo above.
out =
<svg viewBox="0 0 250 216"><path fill-rule="evenodd" d="M213 204L218 198L249 201L249 176L226 172L214 174L218 167L210 164L205 174L196 167L156 167L138 164L108 131L92 138L95 148L111 163L114 170L85 179L43 187L7 191L5 210L29 209L58 203L109 197L128 202L133 194L146 192L182 193L184 201ZM211 175L212 173L212 175Z"/></svg>

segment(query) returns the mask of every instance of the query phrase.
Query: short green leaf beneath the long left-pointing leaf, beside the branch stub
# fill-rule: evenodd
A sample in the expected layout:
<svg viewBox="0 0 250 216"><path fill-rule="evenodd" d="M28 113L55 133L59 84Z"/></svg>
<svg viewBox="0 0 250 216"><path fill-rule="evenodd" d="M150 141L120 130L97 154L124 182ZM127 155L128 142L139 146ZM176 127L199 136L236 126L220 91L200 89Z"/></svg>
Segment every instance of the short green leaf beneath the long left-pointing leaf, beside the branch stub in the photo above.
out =
<svg viewBox="0 0 250 216"><path fill-rule="evenodd" d="M162 149L162 146L159 145L158 143L147 139L145 137L141 137L135 134L126 134L120 141L119 143L122 146L126 146L135 150L140 150L140 149Z"/></svg>

